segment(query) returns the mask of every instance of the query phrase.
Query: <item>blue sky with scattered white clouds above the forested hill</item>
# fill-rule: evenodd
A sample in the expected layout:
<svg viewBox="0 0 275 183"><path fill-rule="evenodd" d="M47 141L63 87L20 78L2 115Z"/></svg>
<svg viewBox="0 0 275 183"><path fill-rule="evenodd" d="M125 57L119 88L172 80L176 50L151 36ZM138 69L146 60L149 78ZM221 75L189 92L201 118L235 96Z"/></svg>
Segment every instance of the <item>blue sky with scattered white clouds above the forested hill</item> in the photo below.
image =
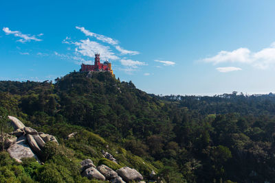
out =
<svg viewBox="0 0 275 183"><path fill-rule="evenodd" d="M94 53L147 93L275 93L275 1L1 1L0 80L54 80Z"/></svg>

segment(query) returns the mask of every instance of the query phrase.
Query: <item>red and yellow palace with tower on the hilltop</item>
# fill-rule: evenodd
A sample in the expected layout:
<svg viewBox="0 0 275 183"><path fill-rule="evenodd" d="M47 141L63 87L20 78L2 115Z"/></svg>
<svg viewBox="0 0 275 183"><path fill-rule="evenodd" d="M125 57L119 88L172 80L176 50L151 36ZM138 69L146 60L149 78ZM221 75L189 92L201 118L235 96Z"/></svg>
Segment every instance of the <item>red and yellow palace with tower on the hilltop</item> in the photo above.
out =
<svg viewBox="0 0 275 183"><path fill-rule="evenodd" d="M111 69L110 62L104 62L103 64L100 63L100 54L95 54L95 62L94 65L89 64L81 64L80 72L89 72L89 71L100 71L100 72L110 72L113 75L113 70Z"/></svg>

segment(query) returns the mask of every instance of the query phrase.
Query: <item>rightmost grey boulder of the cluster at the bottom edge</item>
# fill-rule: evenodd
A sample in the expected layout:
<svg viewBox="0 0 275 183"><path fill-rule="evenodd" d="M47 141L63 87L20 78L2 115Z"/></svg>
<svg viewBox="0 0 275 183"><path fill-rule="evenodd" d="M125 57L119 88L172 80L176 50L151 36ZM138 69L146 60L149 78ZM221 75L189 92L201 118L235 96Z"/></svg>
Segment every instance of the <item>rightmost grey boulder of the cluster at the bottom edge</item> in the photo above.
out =
<svg viewBox="0 0 275 183"><path fill-rule="evenodd" d="M142 175L135 169L129 167L122 167L116 171L120 177L126 182L143 180Z"/></svg>

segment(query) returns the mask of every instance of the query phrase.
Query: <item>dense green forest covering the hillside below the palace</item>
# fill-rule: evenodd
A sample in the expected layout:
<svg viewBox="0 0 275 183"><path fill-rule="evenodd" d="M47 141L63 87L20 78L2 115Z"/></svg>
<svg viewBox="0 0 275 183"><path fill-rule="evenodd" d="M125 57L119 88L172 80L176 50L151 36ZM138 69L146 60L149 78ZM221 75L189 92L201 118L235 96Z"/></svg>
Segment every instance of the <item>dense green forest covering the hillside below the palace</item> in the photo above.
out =
<svg viewBox="0 0 275 183"><path fill-rule="evenodd" d="M2 81L0 106L61 144L45 148L45 164L2 152L0 182L89 182L76 164L104 161L102 149L146 180L154 170L158 182L275 182L272 93L162 97L109 73L73 72L54 83Z"/></svg>

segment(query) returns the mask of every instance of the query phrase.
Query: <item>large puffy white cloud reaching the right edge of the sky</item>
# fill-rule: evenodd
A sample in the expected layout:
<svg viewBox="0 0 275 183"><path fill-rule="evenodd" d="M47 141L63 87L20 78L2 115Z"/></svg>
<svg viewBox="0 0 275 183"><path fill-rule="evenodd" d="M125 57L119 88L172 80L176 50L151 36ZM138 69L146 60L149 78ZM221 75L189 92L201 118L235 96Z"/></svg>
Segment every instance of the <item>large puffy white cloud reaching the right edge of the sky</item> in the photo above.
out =
<svg viewBox="0 0 275 183"><path fill-rule="evenodd" d="M234 51L220 51L216 56L204 58L204 62L221 64L225 62L235 62L250 64L259 69L267 69L275 65L275 42L270 47L252 52L248 48L239 48Z"/></svg>

